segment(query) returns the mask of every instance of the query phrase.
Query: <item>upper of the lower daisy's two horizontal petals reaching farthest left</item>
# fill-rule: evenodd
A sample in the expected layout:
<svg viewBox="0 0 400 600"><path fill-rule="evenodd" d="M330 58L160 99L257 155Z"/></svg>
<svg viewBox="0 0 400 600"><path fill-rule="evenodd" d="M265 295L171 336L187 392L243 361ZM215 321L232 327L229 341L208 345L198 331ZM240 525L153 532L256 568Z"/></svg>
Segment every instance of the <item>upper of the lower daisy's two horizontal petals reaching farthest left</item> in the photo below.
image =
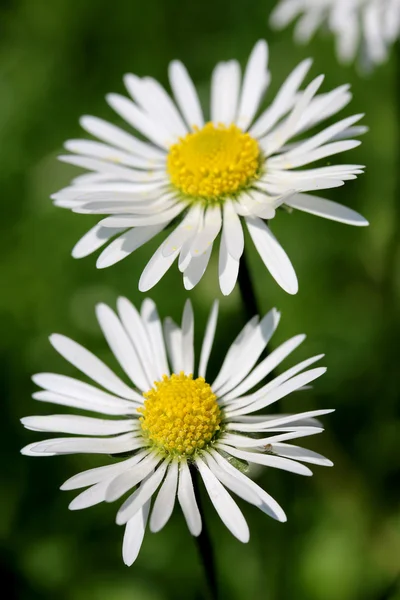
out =
<svg viewBox="0 0 400 600"><path fill-rule="evenodd" d="M136 419L135 419L136 421ZM24 417L21 423L33 431L52 433L74 433L81 435L115 435L132 430L133 419L110 421L80 415L46 415Z"/></svg>

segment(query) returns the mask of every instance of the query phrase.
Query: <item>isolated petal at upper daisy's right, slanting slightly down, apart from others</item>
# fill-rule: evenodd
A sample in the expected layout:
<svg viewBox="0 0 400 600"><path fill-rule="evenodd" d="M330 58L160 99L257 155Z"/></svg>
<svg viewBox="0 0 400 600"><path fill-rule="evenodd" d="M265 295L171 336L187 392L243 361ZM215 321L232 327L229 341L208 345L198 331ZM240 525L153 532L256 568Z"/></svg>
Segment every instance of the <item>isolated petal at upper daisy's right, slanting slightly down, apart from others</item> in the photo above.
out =
<svg viewBox="0 0 400 600"><path fill-rule="evenodd" d="M368 221L355 210L337 202L326 200L325 198L318 198L318 196L296 194L287 201L287 204L297 210L303 210L304 212L324 217L325 219L331 219L332 221L339 221L339 223L356 225L358 227L369 225Z"/></svg>

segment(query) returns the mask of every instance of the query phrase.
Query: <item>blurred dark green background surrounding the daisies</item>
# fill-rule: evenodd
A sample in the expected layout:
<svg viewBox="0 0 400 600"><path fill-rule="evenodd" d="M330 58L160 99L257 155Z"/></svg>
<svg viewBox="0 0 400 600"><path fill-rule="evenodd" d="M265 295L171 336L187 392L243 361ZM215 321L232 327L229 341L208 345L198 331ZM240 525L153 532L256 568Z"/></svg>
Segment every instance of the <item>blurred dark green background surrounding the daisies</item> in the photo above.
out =
<svg viewBox="0 0 400 600"><path fill-rule="evenodd" d="M2 585L22 600L190 600L201 598L196 547L176 509L159 534L148 533L132 568L121 559L122 528L115 506L69 512L71 493L59 485L104 462L86 456L34 459L19 449L39 434L22 416L52 412L30 395L31 374L73 374L48 343L52 332L80 341L115 364L95 322L98 301L123 294L139 303L137 281L152 250L147 245L115 267L96 271L95 257L70 252L95 223L52 206L49 195L78 173L58 163L65 139L80 137L78 118L114 122L104 101L123 91L133 71L167 85L167 65L180 58L207 103L218 60L242 64L257 39L270 44L272 85L267 100L298 61L315 58L312 76L326 74L322 91L346 82L354 100L343 116L366 112L370 133L360 148L333 162L367 165L358 181L327 197L361 211L371 222L355 229L311 215L279 214L273 222L295 265L300 292L290 297L250 252L262 312L283 313L273 344L300 332L308 339L284 368L326 352L328 373L314 390L281 403L282 411L336 408L327 431L308 446L328 455L333 469L312 479L264 470L259 482L283 505L288 523L275 523L239 500L251 528L237 542L209 502L206 518L217 556L221 597L241 600L388 600L398 598L399 467L399 72L389 63L362 79L337 65L332 40L308 48L291 31L268 28L271 0L2 0L0 3L0 179ZM397 60L400 52L397 50ZM216 261L190 294L197 342L217 290ZM177 269L149 294L163 316L178 319L186 296ZM215 365L243 320L235 291L222 299ZM290 361L292 361L290 363ZM54 412L60 412L55 410ZM396 595L397 594L397 595Z"/></svg>

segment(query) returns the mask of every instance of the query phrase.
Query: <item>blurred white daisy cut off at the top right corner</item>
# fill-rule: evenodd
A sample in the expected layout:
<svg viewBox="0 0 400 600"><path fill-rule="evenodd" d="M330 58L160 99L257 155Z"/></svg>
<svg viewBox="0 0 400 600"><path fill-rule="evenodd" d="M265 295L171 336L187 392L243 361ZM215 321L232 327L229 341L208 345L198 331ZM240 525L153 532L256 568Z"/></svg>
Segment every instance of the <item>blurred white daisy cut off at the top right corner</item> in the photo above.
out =
<svg viewBox="0 0 400 600"><path fill-rule="evenodd" d="M367 68L383 63L400 35L400 0L280 0L271 25L283 29L297 17L298 42L327 26L337 38L339 60L352 62L361 49Z"/></svg>

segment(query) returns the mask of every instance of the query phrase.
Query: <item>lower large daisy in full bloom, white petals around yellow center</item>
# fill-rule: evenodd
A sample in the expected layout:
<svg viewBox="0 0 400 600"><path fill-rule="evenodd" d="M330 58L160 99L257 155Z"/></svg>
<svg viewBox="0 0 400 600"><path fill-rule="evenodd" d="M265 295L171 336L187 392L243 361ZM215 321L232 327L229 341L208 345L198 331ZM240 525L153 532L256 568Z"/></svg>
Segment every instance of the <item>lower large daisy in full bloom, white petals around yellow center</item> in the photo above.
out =
<svg viewBox="0 0 400 600"><path fill-rule="evenodd" d="M246 520L226 488L278 521L286 521L286 516L239 465L255 463L300 475L312 474L303 462L332 465L319 454L288 443L321 432L322 426L315 417L331 410L258 414L322 375L325 368L308 367L323 355L313 356L261 384L305 338L291 338L256 366L279 322L280 315L274 309L263 319L254 317L247 323L210 385L205 377L217 316L215 302L201 347L197 378L192 375L194 318L190 302L185 305L179 327L171 319L162 325L151 300L143 302L139 314L125 298L118 300L118 316L100 304L97 318L115 358L131 380L128 385L88 350L58 334L50 337L53 347L96 385L54 373L33 377L43 388L34 393L36 400L114 417L26 417L22 423L28 429L80 437L35 442L22 453L128 453L125 460L79 473L61 486L63 490L87 488L72 501L72 510L118 500L136 488L117 513L117 523L126 525L123 558L128 565L138 555L150 512L150 530L159 531L170 518L176 498L190 532L200 534L201 517L189 467L200 472L226 527L247 542Z"/></svg>

